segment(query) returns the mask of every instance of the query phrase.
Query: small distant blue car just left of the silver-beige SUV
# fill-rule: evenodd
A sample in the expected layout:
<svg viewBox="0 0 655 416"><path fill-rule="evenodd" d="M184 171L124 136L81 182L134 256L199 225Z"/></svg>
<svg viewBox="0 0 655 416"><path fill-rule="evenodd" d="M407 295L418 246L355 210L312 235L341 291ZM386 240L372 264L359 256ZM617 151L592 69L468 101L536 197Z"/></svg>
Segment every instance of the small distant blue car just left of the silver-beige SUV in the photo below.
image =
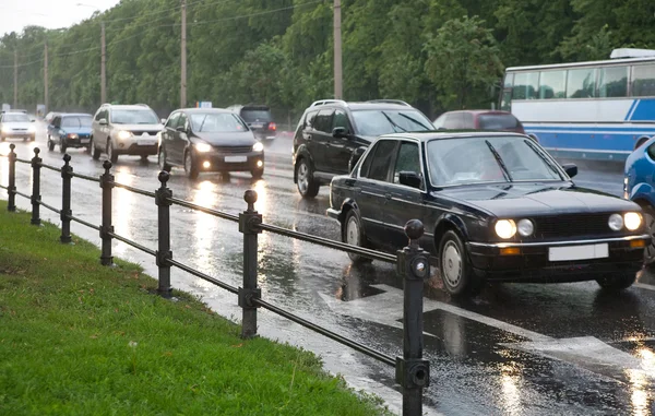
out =
<svg viewBox="0 0 655 416"><path fill-rule="evenodd" d="M92 121L90 114L57 115L48 124L48 148L53 151L59 145L61 153L69 147L85 147L88 151Z"/></svg>

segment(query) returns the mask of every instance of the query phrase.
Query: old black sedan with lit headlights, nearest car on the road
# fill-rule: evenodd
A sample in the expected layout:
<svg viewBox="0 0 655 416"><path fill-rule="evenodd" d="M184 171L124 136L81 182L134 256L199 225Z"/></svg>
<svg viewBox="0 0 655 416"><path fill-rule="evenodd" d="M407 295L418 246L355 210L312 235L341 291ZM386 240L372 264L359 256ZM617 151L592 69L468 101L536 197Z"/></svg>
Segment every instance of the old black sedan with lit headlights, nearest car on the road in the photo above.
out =
<svg viewBox="0 0 655 416"><path fill-rule="evenodd" d="M576 173L523 134L383 135L332 180L327 214L345 242L388 251L407 245L407 221L422 221L421 247L452 295L486 281L627 288L650 242L641 209L576 187Z"/></svg>

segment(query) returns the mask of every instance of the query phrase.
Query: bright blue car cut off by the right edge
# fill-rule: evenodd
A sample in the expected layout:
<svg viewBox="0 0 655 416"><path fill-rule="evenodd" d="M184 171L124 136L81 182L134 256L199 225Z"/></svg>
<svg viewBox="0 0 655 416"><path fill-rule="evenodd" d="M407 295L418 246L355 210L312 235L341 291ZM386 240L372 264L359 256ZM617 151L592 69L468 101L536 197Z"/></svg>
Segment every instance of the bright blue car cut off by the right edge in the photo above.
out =
<svg viewBox="0 0 655 416"><path fill-rule="evenodd" d="M626 161L623 198L641 205L648 234L655 236L655 135ZM655 241L644 252L644 264L655 268Z"/></svg>

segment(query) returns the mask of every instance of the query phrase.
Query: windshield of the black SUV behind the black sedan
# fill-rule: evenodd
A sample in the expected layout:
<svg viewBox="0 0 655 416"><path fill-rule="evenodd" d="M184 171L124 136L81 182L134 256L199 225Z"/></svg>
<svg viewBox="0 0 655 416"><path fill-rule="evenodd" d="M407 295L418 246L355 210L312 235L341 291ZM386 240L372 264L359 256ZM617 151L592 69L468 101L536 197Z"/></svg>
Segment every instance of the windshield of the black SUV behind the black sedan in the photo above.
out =
<svg viewBox="0 0 655 416"><path fill-rule="evenodd" d="M430 120L416 110L356 110L353 118L360 135L434 130Z"/></svg>

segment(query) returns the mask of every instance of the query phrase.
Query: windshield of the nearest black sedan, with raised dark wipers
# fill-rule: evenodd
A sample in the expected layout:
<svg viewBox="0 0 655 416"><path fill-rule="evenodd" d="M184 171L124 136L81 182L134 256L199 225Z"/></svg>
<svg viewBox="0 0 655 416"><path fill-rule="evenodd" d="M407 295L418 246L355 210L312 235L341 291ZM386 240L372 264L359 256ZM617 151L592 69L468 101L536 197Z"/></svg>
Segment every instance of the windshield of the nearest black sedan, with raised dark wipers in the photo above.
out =
<svg viewBox="0 0 655 416"><path fill-rule="evenodd" d="M527 138L432 140L427 148L434 186L564 179L556 162Z"/></svg>

